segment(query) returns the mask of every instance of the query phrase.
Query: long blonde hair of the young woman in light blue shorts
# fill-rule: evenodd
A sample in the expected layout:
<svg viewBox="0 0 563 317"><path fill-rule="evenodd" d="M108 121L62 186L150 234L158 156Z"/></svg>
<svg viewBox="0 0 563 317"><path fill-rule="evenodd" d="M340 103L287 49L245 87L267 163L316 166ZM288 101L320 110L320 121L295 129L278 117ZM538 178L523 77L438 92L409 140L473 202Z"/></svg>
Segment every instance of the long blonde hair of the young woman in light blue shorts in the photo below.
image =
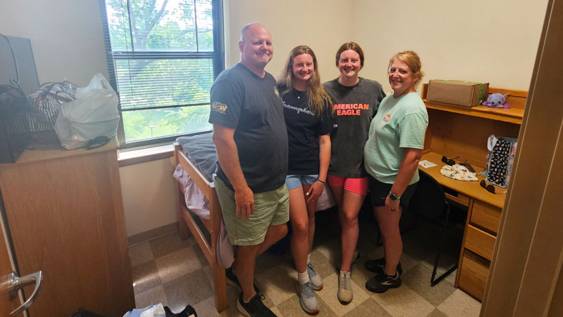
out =
<svg viewBox="0 0 563 317"><path fill-rule="evenodd" d="M289 53L289 59L286 63L286 67L282 71L282 74L279 75L277 79L277 83L279 85L285 85L286 90L281 92L282 96L287 94L291 90L293 90L293 61L295 57L301 54L309 54L312 57L312 63L314 66L314 70L312 72L312 76L308 81L308 102L310 110L315 113L317 116L321 116L323 112L326 111L326 108L332 109L332 99L330 98L330 94L324 90L323 86L321 85L321 76L319 75L319 65L317 64L317 57L315 57L315 53L312 52L311 48L307 45L299 45L293 48Z"/></svg>

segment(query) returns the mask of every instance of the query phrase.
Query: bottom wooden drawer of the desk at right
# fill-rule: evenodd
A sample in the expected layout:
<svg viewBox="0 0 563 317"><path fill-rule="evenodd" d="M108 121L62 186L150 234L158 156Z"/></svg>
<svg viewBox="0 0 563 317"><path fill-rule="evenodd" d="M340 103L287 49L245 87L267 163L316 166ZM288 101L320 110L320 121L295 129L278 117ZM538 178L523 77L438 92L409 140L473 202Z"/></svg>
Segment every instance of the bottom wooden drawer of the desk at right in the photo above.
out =
<svg viewBox="0 0 563 317"><path fill-rule="evenodd" d="M459 272L458 287L482 301L490 265L491 263L485 258L465 249Z"/></svg>

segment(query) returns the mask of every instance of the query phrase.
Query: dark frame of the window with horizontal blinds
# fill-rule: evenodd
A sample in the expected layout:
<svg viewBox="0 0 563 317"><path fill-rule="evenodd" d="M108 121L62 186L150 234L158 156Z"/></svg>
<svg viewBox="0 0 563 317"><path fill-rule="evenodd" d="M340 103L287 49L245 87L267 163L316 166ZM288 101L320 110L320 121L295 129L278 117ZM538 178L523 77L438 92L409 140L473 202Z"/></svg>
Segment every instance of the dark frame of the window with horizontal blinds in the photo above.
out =
<svg viewBox="0 0 563 317"><path fill-rule="evenodd" d="M129 2L130 0L123 0ZM195 0L194 0L195 1ZM107 60L107 72L109 74L109 83L111 87L119 95L117 89L115 63L117 60L127 59L211 59L213 61L213 80L225 69L225 54L224 54L224 19L223 19L223 1L211 0L211 14L213 19L213 52L183 52L183 51L142 51L142 52L127 52L122 50L111 50L111 38L109 34L109 24L107 23L107 9L106 1L99 0L100 18L102 20L102 31L104 37L105 57ZM124 111L138 111L138 110L156 110L166 108L178 107L192 107L198 105L209 105L209 103L193 103L190 105L164 105L157 107L142 107L134 110ZM157 136L150 139L142 139L138 141L125 141L125 126L123 124L123 115L120 102L118 103L119 110L119 125L117 130L116 139L120 149L127 149L131 147L146 147L147 145L161 145L163 143L171 143L175 141L178 136L196 135L202 133L209 133L211 130L204 130L191 133L174 134L171 136Z"/></svg>

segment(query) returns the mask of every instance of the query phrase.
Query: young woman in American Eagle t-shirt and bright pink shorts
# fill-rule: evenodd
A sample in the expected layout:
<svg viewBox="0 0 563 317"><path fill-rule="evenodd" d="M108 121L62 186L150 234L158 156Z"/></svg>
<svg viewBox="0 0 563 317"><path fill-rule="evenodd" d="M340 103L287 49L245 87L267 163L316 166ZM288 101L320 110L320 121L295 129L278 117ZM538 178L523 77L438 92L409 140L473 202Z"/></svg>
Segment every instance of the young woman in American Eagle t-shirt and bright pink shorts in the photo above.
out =
<svg viewBox="0 0 563 317"><path fill-rule="evenodd" d="M350 266L358 241L358 213L368 194L368 174L363 167L363 145L368 140L370 122L385 97L381 84L358 76L363 68L363 50L357 43L340 46L336 54L340 70L337 79L323 83L332 97L337 129L332 131L332 151L328 183L338 204L342 225L342 265L338 299L352 301Z"/></svg>

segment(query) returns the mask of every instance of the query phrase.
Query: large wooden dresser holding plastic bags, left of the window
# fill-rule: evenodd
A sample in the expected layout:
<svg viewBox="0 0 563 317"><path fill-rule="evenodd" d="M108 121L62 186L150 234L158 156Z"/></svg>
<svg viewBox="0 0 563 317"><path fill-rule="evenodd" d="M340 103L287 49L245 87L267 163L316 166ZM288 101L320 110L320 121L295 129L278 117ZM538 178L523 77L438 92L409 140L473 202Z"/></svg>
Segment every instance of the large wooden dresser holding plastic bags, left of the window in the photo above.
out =
<svg viewBox="0 0 563 317"><path fill-rule="evenodd" d="M0 164L19 273L43 271L30 316L123 316L135 302L115 140L89 151L32 146Z"/></svg>

